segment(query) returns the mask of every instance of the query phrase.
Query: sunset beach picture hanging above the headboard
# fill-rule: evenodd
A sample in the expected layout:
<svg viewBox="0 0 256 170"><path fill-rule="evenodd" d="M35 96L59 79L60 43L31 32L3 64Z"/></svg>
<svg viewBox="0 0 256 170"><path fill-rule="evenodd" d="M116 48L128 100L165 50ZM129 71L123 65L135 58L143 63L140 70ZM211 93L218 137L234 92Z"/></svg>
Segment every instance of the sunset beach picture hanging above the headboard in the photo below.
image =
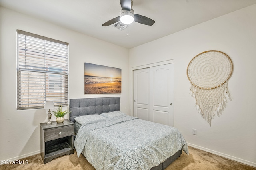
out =
<svg viewBox="0 0 256 170"><path fill-rule="evenodd" d="M121 93L121 69L84 63L84 94Z"/></svg>

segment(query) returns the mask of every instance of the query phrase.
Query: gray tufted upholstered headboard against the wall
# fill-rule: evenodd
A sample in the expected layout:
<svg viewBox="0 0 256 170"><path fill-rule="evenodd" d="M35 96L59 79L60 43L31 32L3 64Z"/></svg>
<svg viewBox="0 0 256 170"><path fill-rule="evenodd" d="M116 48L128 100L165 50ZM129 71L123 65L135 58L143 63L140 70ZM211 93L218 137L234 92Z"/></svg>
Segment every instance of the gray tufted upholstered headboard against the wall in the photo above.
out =
<svg viewBox="0 0 256 170"><path fill-rule="evenodd" d="M82 115L93 115L112 111L120 111L120 97L101 97L69 100L70 121Z"/></svg>

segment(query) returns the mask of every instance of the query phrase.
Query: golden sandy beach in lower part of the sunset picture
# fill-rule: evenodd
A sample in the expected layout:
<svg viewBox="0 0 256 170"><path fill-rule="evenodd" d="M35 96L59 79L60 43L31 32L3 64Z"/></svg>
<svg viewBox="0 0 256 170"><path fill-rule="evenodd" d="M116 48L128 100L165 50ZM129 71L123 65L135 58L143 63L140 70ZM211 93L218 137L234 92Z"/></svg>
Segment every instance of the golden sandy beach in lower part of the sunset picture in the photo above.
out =
<svg viewBox="0 0 256 170"><path fill-rule="evenodd" d="M121 82L85 84L84 94L121 93Z"/></svg>

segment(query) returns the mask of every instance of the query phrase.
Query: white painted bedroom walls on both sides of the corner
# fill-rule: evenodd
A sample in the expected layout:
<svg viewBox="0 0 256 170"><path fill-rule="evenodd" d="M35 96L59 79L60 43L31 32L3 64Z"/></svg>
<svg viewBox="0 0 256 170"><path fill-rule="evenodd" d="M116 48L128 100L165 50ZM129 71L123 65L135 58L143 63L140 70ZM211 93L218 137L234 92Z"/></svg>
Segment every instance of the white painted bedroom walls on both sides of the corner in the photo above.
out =
<svg viewBox="0 0 256 170"><path fill-rule="evenodd" d="M16 110L20 29L70 44L69 98L120 96L121 110L127 114L133 103L132 67L174 59L174 126L190 146L256 166L255 18L253 5L128 50L0 7L0 160L39 153L39 123L46 122L44 109ZM212 120L212 127L196 111L186 77L189 61L207 50L226 53L234 65L228 84L232 101ZM122 94L84 95L84 62L121 68Z"/></svg>

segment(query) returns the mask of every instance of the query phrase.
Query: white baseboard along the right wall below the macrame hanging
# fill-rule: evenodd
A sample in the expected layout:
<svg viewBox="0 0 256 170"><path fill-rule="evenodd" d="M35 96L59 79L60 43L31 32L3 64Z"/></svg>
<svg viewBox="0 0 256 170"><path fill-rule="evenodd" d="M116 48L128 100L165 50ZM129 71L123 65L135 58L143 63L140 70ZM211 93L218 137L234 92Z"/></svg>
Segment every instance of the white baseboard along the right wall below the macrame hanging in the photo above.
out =
<svg viewBox="0 0 256 170"><path fill-rule="evenodd" d="M220 153L220 152L216 152L214 150L210 150L210 149L207 149L207 148L203 148L201 146L197 146L197 145L194 145L194 144L191 144L191 143L188 143L188 146L191 146L193 148L197 148L197 149L200 149L200 150L203 150L203 151L206 151L206 152L209 152L209 153L212 153L212 154L216 154L218 156L222 156L224 158L228 158L228 159L231 159L231 160L234 160L236 162L240 162L242 164L246 164L246 165L250 165L250 166L253 166L253 167L256 167L256 163L254 162L250 162L250 161L247 161L247 160L243 160L243 159L240 159L240 158L236 158L234 156L230 156L230 155L227 155L227 154L223 154L223 153Z"/></svg>

